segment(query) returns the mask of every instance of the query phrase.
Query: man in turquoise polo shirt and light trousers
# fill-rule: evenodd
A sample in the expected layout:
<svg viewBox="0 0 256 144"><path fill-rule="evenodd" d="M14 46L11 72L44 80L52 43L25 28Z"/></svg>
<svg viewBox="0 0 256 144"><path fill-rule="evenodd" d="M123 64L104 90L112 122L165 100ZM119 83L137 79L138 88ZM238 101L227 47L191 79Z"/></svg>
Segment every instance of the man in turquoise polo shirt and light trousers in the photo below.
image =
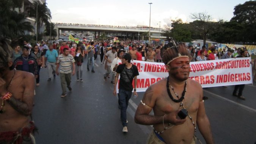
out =
<svg viewBox="0 0 256 144"><path fill-rule="evenodd" d="M48 67L48 80L51 81L52 77L55 78L56 74L56 65L58 61L58 52L53 49L53 45L49 44L49 50L46 51L45 61Z"/></svg>

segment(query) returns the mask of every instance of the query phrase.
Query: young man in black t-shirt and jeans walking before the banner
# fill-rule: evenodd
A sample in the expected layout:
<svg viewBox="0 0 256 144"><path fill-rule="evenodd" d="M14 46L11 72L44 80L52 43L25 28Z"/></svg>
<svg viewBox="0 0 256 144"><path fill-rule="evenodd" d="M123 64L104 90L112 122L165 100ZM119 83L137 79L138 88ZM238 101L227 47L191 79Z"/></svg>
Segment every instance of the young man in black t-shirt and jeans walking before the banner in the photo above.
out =
<svg viewBox="0 0 256 144"><path fill-rule="evenodd" d="M128 107L129 99L132 96L132 81L134 78L134 90L133 95L138 95L136 92L137 86L137 75L139 75L137 66L130 63L132 57L129 53L123 56L122 64L119 64L116 68L115 86L113 94L116 95L116 85L118 82L118 77L120 74L119 81L119 92L118 92L118 103L121 108L121 121L123 124L123 132L128 132L127 130L127 118L126 110Z"/></svg>

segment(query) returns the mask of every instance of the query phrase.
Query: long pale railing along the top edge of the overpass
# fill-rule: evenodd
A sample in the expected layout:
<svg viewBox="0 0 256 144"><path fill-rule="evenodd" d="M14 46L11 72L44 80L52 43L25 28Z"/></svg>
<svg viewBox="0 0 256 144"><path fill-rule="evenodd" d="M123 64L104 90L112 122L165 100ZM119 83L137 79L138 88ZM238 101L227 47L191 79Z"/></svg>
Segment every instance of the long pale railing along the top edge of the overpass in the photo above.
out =
<svg viewBox="0 0 256 144"><path fill-rule="evenodd" d="M84 25L84 24L68 24L68 23L54 23L55 25L65 25L65 26L78 26L78 27L99 27L99 28L123 28L123 29L133 29L133 30L148 30L149 28L138 28L138 27L122 27L122 26L108 26L108 25ZM151 28L150 30L158 30L159 28ZM166 30L160 28L160 31Z"/></svg>

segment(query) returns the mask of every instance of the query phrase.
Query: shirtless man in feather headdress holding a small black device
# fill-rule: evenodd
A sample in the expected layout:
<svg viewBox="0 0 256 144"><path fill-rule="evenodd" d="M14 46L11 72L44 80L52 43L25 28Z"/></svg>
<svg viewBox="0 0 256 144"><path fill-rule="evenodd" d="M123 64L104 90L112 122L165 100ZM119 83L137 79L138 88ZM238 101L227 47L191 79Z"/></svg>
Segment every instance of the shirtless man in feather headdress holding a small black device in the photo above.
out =
<svg viewBox="0 0 256 144"><path fill-rule="evenodd" d="M187 50L182 45L171 47L165 51L163 63L169 76L146 90L135 113L137 124L154 127L148 144L194 144L196 124L206 143L213 144L210 122L204 109L203 89L198 82L188 78ZM154 116L149 115L152 109ZM185 119L177 116L181 109L187 110Z"/></svg>

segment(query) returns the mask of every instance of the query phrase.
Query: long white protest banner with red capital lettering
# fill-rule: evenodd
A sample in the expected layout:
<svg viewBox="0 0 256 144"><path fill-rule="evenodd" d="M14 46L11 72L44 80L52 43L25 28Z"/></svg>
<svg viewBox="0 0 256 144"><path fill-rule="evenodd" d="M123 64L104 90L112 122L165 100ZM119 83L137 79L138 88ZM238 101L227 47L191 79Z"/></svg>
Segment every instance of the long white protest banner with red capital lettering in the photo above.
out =
<svg viewBox="0 0 256 144"><path fill-rule="evenodd" d="M251 84L253 77L250 61L248 57L190 62L189 78L198 81L203 88ZM163 63L135 60L131 63L138 67L140 74L137 76L137 92L144 92L150 85L168 77Z"/></svg>

